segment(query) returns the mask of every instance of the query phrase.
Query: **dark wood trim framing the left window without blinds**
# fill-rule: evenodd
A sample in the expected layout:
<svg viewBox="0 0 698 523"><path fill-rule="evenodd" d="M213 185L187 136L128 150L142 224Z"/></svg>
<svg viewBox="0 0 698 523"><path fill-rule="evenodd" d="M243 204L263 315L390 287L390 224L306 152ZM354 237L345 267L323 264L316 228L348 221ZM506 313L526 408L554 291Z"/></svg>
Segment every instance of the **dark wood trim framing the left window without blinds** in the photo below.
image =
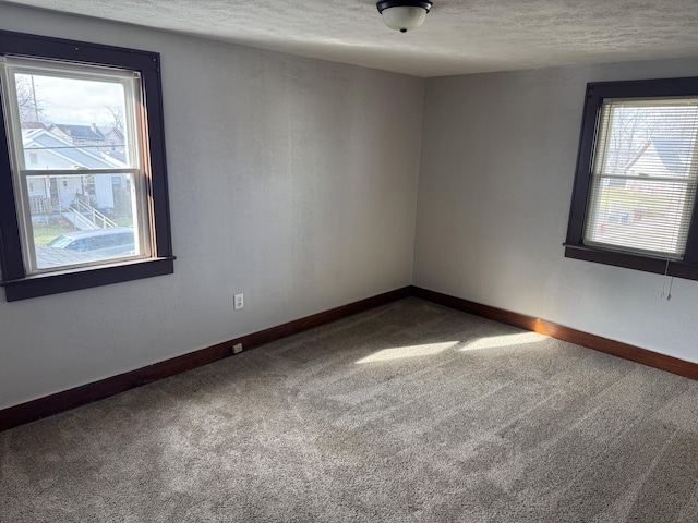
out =
<svg viewBox="0 0 698 523"><path fill-rule="evenodd" d="M0 56L2 54L110 65L141 73L143 96L147 100L151 163L148 197L153 207L151 228L155 238L154 256L147 259L74 271L27 276L22 259L20 228L15 211L7 122L4 113L0 111L0 270L3 279L1 284L4 287L7 300L12 302L172 273L174 256L172 255L169 219L159 54L0 31Z"/></svg>

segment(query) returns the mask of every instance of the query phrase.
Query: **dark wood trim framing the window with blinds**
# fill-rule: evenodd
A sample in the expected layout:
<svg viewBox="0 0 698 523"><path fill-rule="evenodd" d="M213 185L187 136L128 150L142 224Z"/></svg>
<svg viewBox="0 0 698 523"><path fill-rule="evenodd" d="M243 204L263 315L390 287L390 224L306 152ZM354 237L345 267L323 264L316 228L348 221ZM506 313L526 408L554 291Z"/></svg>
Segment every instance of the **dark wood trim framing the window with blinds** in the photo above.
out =
<svg viewBox="0 0 698 523"><path fill-rule="evenodd" d="M591 169L604 99L670 98L697 95L698 77L600 82L587 85L567 240L564 243L566 257L698 280L698 205L694 206L686 251L681 260L667 260L659 256L614 251L583 243L583 228L591 190Z"/></svg>

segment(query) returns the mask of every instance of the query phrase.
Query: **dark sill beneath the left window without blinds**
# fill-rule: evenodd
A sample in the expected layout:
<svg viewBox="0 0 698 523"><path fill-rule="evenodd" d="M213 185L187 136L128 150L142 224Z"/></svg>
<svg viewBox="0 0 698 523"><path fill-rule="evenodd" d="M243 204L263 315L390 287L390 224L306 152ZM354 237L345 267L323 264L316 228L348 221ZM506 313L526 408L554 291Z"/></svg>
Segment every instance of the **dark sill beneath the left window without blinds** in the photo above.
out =
<svg viewBox="0 0 698 523"><path fill-rule="evenodd" d="M89 267L82 270L27 276L0 282L8 302L48 296L61 292L91 289L124 281L140 280L174 272L174 256L140 259L118 265Z"/></svg>

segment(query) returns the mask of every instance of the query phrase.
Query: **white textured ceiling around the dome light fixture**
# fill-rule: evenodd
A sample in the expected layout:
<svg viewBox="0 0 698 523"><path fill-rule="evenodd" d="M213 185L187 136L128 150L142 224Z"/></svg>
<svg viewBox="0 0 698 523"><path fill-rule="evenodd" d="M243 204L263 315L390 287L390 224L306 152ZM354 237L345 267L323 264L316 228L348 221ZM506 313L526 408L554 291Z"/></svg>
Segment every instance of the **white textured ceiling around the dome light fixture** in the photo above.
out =
<svg viewBox="0 0 698 523"><path fill-rule="evenodd" d="M372 0L20 0L417 76L698 57L698 0L434 0L388 29Z"/></svg>

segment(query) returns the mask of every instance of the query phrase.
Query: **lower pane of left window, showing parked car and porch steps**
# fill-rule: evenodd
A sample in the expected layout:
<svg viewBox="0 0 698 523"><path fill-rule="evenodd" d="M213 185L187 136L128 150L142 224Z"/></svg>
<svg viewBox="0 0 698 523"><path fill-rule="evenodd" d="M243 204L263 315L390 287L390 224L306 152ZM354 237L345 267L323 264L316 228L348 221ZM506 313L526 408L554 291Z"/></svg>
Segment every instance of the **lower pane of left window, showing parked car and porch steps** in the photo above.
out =
<svg viewBox="0 0 698 523"><path fill-rule="evenodd" d="M37 269L145 254L133 174L31 175L26 186Z"/></svg>

